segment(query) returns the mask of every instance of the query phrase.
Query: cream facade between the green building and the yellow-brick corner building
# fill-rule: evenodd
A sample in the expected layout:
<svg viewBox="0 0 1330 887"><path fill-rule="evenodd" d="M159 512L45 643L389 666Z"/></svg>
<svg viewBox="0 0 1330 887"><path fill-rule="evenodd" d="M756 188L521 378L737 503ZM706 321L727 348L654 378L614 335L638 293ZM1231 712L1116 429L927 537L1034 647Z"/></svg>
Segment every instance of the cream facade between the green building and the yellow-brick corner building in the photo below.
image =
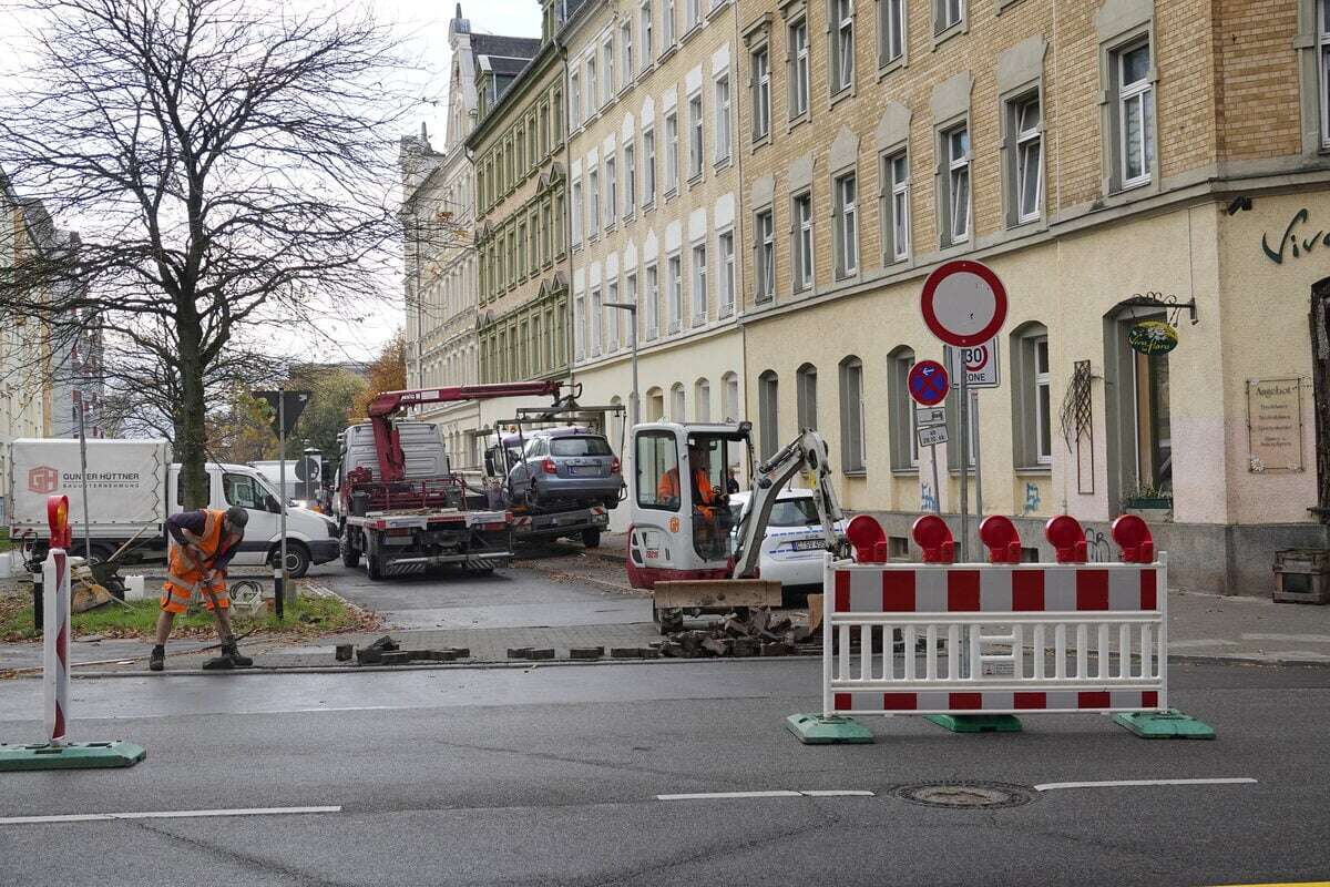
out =
<svg viewBox="0 0 1330 887"><path fill-rule="evenodd" d="M743 418L735 33L729 0L587 0L563 35L575 374L630 406L636 319L645 422Z"/></svg>

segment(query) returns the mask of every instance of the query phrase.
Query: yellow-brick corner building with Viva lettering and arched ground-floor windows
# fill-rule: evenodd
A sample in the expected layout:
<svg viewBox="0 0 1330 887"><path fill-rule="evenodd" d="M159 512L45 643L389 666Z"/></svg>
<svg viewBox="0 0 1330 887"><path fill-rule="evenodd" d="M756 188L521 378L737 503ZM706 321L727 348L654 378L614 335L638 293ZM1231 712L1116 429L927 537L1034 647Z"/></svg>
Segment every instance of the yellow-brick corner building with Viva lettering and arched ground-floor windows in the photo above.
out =
<svg viewBox="0 0 1330 887"><path fill-rule="evenodd" d="M1176 585L1267 593L1275 549L1327 541L1327 7L739 0L763 452L822 430L843 503L912 552L964 448L954 394L935 489L904 384L944 358L920 290L982 259L1009 295L970 445L984 511L1045 556L1072 513L1105 560L1141 511ZM1144 320L1176 350L1133 350Z"/></svg>

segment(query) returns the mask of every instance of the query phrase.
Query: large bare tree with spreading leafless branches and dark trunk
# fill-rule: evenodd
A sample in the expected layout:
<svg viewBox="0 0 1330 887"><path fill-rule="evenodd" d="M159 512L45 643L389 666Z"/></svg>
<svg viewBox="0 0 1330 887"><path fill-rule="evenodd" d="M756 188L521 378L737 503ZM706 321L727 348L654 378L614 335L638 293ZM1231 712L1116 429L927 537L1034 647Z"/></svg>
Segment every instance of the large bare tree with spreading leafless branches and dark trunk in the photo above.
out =
<svg viewBox="0 0 1330 887"><path fill-rule="evenodd" d="M238 336L396 298L398 44L366 13L279 0L29 12L37 57L0 93L0 166L82 242L8 269L0 309L98 318L118 342L108 379L156 394L140 418L169 422L186 504L203 505L205 416L251 352Z"/></svg>

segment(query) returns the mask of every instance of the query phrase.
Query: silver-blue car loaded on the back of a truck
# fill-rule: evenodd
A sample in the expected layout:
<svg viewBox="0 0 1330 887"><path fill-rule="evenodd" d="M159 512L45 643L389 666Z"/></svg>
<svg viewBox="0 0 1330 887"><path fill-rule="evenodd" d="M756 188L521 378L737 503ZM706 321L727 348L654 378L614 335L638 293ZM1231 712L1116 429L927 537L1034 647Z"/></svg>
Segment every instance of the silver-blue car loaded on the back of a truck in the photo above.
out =
<svg viewBox="0 0 1330 887"><path fill-rule="evenodd" d="M604 435L587 428L544 428L531 434L527 449L508 473L515 497L537 507L618 505L624 488L618 456Z"/></svg>

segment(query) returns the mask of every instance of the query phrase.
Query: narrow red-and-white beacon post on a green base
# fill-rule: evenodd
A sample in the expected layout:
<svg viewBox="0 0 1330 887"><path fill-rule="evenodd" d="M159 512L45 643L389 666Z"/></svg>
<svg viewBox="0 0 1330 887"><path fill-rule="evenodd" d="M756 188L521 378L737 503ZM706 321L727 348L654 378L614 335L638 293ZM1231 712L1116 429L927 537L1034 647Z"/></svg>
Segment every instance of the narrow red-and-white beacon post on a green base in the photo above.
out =
<svg viewBox="0 0 1330 887"><path fill-rule="evenodd" d="M0 773L129 767L146 757L130 742L66 742L69 727L69 499L47 501L51 547L43 564L41 696L45 739L33 745L0 743Z"/></svg>

